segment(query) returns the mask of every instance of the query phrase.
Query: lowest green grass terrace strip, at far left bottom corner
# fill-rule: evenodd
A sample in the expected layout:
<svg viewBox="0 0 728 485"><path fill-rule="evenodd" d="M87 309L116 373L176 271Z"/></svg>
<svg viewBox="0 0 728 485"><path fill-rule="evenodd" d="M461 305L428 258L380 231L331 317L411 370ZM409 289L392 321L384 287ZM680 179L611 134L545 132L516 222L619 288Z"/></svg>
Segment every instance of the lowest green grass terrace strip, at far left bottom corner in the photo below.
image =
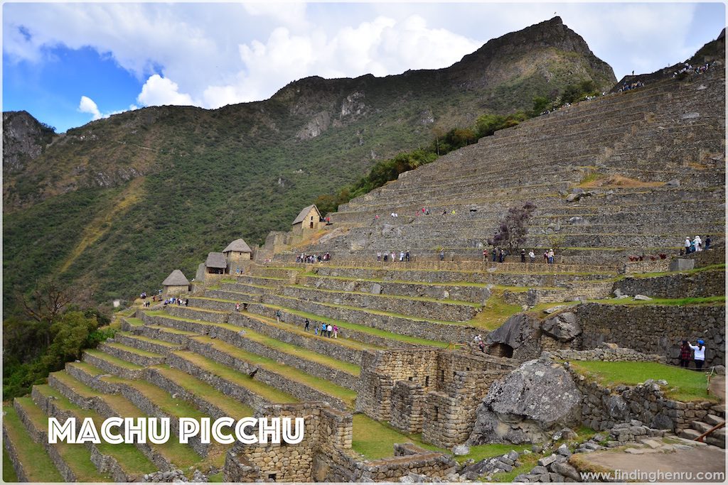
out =
<svg viewBox="0 0 728 485"><path fill-rule="evenodd" d="M3 444L19 481L66 481L55 468L42 444L28 435L28 430L12 404L3 404Z"/></svg>

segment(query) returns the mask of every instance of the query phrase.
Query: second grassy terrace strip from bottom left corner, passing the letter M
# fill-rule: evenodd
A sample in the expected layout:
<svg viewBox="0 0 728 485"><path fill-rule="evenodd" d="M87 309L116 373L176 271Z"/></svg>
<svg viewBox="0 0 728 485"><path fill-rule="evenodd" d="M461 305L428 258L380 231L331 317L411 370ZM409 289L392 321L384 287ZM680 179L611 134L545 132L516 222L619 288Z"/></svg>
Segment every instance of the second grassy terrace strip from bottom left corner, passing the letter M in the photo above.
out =
<svg viewBox="0 0 728 485"><path fill-rule="evenodd" d="M25 424L34 442L41 444L65 481L109 481L106 473L100 473L91 461L91 452L83 444L48 442L48 416L32 398L15 398L15 411Z"/></svg>

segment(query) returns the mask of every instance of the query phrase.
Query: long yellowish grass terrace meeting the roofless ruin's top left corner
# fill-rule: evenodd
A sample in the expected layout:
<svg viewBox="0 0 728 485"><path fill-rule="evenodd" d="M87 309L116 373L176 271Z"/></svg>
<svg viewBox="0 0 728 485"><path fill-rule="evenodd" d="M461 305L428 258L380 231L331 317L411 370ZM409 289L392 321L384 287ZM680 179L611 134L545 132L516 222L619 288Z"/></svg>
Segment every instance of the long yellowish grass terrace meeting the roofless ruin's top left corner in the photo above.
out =
<svg viewBox="0 0 728 485"><path fill-rule="evenodd" d="M244 329L242 326L215 324L206 321L175 320L172 317L155 318L154 321L161 325L182 325L185 328L195 329L198 335L191 335L186 340L186 346L190 348L199 348L199 345L194 345L194 342L199 342L197 336L210 336L221 342L229 342L246 352L274 358L279 362L285 361L296 369L309 372L313 376L322 379L331 380L331 382L350 389L356 389L358 385L358 365L352 365L347 361L339 361L333 356L312 352L312 350L297 347L296 345L278 342L251 329ZM206 349L202 348L202 350Z"/></svg>

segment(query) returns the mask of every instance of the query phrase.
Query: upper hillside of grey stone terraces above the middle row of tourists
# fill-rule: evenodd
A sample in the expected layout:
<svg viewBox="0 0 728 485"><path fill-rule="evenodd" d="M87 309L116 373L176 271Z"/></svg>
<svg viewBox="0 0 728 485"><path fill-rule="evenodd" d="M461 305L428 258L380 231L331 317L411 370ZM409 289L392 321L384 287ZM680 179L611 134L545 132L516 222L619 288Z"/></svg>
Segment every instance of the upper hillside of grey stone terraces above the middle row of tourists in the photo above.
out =
<svg viewBox="0 0 728 485"><path fill-rule="evenodd" d="M525 201L538 207L526 247L560 234L564 260L676 252L695 234L722 241L724 92L716 69L501 130L342 205L331 234L298 252L371 260L409 249L423 260L442 248L448 260L477 260L507 208ZM567 201L573 189L590 196ZM416 215L423 207L431 214Z"/></svg>

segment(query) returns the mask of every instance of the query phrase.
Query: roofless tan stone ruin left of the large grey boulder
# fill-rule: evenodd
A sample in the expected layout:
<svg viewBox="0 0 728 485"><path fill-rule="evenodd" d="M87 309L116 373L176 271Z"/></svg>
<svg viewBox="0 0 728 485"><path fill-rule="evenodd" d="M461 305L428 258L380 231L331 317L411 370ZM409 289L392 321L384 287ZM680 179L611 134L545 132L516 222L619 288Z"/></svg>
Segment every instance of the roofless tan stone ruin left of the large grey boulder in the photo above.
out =
<svg viewBox="0 0 728 485"><path fill-rule="evenodd" d="M509 359L448 350L401 348L363 353L357 411L438 446L462 444L488 387Z"/></svg>

